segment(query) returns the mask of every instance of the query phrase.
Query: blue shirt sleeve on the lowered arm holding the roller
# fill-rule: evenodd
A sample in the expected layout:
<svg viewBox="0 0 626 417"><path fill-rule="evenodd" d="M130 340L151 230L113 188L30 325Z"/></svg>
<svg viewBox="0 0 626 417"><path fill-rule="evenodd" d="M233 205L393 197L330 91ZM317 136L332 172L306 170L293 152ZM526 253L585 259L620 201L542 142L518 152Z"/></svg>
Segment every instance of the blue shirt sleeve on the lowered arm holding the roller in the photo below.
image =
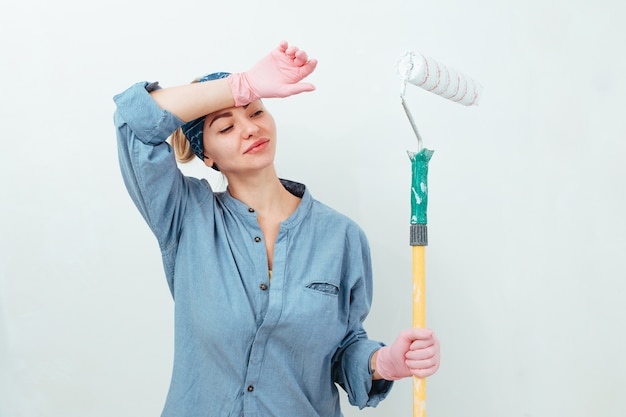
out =
<svg viewBox="0 0 626 417"><path fill-rule="evenodd" d="M350 239L347 239L350 241ZM376 407L389 394L393 382L372 380L370 359L383 344L370 340L363 328L372 302L372 268L369 244L359 229L358 242L349 249L350 270L357 274L350 294L349 326L333 358L333 379L348 394L350 404L363 409Z"/></svg>

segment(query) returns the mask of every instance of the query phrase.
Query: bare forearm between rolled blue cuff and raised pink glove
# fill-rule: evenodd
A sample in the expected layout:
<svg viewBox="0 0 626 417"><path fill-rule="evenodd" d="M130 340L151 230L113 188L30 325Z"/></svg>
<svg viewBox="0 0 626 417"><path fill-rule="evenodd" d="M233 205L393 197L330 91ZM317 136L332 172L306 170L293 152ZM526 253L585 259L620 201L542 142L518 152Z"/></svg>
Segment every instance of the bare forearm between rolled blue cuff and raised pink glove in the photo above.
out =
<svg viewBox="0 0 626 417"><path fill-rule="evenodd" d="M150 93L164 110L189 122L235 105L228 81L223 79L162 88Z"/></svg>

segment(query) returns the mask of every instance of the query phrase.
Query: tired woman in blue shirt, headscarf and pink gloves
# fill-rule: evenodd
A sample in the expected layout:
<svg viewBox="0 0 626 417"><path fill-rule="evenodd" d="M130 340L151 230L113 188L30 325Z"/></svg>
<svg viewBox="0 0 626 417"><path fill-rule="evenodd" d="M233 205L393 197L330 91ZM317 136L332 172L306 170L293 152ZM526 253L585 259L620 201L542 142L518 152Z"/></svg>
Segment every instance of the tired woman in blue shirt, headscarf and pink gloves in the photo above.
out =
<svg viewBox="0 0 626 417"><path fill-rule="evenodd" d="M316 65L282 42L244 73L115 96L124 181L175 300L162 416L341 416L335 384L351 404L376 406L391 381L439 367L431 330L406 330L391 346L368 339L363 231L276 174L276 127L260 99L314 90L301 81ZM178 170L174 132L179 157L191 150L219 169L226 191Z"/></svg>

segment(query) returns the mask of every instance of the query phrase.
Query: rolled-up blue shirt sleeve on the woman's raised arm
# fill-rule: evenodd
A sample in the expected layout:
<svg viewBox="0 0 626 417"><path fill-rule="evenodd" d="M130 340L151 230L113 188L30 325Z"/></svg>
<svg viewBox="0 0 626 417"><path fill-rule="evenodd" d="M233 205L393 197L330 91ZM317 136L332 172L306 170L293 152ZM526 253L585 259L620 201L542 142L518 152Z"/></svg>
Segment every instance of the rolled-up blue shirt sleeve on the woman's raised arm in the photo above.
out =
<svg viewBox="0 0 626 417"><path fill-rule="evenodd" d="M124 183L159 242L173 290L174 254L189 196L193 188L210 191L210 186L178 169L166 139L183 122L152 99L149 93L157 88L157 83L140 82L116 95L114 123Z"/></svg>

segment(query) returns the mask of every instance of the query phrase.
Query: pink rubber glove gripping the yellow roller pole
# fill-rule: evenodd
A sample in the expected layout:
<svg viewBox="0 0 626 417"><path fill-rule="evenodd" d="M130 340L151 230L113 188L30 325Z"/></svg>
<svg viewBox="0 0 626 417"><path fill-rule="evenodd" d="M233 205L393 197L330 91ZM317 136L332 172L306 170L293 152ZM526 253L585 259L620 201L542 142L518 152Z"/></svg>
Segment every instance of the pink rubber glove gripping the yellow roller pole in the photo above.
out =
<svg viewBox="0 0 626 417"><path fill-rule="evenodd" d="M430 329L401 332L391 346L378 350L376 371L387 381L426 378L439 369L439 340Z"/></svg>

